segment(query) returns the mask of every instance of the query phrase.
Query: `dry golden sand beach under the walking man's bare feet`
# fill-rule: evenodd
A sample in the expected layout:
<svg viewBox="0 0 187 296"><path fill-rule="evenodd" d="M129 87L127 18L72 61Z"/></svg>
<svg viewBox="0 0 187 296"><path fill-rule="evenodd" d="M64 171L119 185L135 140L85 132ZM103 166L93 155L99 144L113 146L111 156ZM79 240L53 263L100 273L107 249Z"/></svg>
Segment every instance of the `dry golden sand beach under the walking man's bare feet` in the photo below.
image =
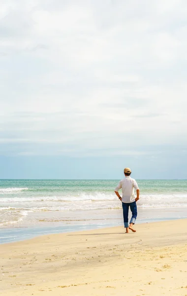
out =
<svg viewBox="0 0 187 296"><path fill-rule="evenodd" d="M3 296L187 296L187 220L0 245Z"/></svg>

